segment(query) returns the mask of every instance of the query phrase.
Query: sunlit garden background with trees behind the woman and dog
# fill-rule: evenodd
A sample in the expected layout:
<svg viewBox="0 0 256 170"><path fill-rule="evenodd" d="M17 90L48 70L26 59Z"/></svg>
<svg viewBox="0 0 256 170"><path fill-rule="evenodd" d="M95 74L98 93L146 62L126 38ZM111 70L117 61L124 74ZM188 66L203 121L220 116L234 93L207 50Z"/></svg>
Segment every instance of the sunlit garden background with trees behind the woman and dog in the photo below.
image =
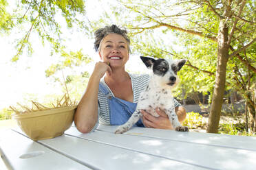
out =
<svg viewBox="0 0 256 170"><path fill-rule="evenodd" d="M203 132L256 132L255 1L0 0L0 119L9 106L79 101L94 63L94 31L127 28L127 71L148 73L139 56L186 58L173 95L184 124ZM18 103L18 104L17 104ZM20 108L21 109L21 108Z"/></svg>

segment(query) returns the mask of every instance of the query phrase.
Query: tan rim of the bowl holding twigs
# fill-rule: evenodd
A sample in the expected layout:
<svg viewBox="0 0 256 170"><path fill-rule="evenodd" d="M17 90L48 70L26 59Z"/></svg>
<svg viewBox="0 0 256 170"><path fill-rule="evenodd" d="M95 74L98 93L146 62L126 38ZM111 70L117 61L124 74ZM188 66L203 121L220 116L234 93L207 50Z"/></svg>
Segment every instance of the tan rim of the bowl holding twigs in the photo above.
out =
<svg viewBox="0 0 256 170"><path fill-rule="evenodd" d="M38 110L35 112L28 112L25 114L12 114L12 118L19 120L19 119L28 119L32 117L42 117L50 114L61 114L62 112L68 112L76 108L77 106L63 106L58 108L49 108L45 110Z"/></svg>

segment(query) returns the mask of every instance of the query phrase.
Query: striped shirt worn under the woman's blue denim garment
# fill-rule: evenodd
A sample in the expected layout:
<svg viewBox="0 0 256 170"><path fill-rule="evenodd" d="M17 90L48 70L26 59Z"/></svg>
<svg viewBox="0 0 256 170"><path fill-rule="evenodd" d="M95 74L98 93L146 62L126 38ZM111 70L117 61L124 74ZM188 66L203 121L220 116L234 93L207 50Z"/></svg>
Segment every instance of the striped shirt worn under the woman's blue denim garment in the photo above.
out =
<svg viewBox="0 0 256 170"><path fill-rule="evenodd" d="M134 103L138 103L140 93L142 92L142 90L145 89L147 84L149 84L149 75L137 75L129 73L129 76L131 77L131 86L134 94ZM114 94L111 92L110 88L105 83L104 78L100 80L100 82L102 82L105 85L105 87L107 87L107 90L109 90L109 94L105 95L101 90L98 90L98 121L101 124L110 125L108 97L109 95L111 97L114 97ZM173 99L173 102L175 107L181 106L181 104L175 99Z"/></svg>

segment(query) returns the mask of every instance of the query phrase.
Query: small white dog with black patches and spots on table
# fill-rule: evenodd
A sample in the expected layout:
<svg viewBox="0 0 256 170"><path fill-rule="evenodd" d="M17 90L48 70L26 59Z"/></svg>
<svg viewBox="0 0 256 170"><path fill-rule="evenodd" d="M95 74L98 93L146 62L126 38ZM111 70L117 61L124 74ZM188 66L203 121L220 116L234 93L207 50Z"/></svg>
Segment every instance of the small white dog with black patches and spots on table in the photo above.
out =
<svg viewBox="0 0 256 170"><path fill-rule="evenodd" d="M140 57L142 62L151 69L152 75L147 87L140 93L138 104L135 112L131 115L127 123L118 126L116 134L127 132L139 119L142 117L140 110L149 112L154 117L159 117L155 112L156 108L164 110L168 115L173 129L180 132L188 132L189 128L182 126L178 121L177 114L173 104L173 97L171 96L171 89L178 84L177 73L186 63L186 59L169 60L148 57Z"/></svg>

